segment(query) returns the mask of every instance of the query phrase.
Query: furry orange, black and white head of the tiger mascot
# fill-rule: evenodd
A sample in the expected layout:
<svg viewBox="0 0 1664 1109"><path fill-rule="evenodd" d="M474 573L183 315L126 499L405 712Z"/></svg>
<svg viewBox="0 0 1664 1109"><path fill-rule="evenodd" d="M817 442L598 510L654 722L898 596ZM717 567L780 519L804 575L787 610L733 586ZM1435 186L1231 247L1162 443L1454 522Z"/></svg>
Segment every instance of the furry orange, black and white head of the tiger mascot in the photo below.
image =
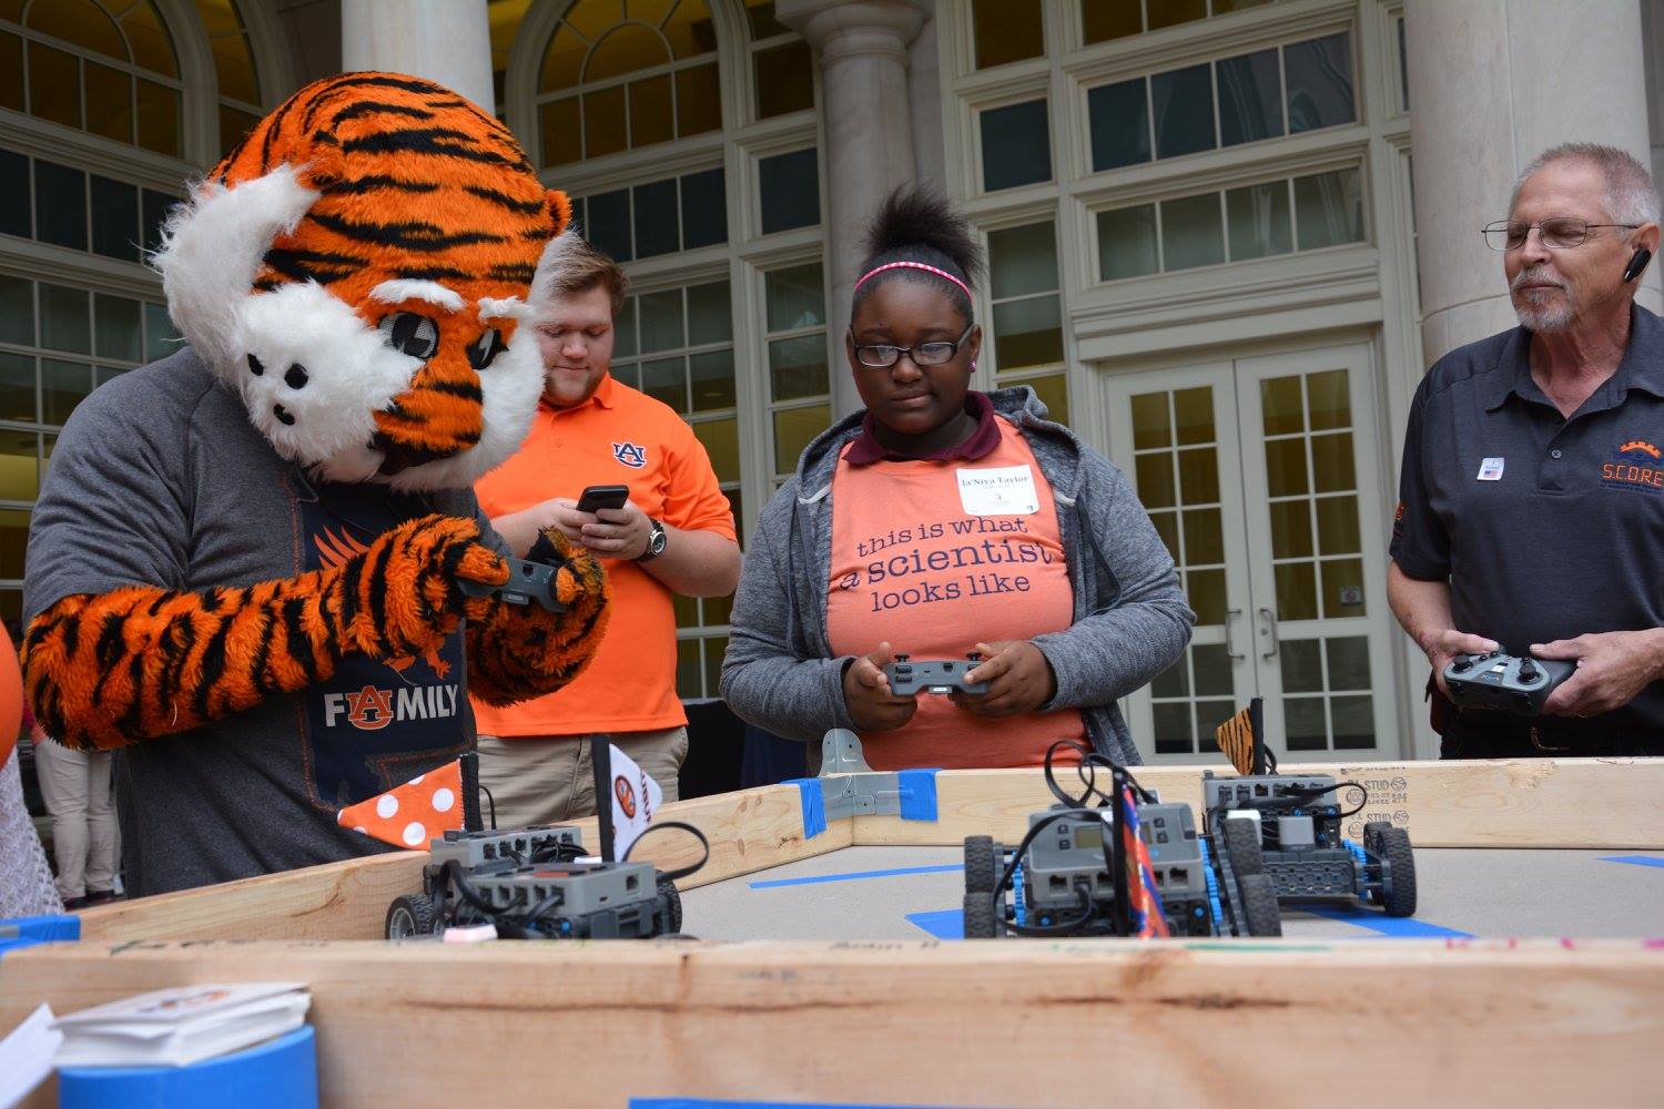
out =
<svg viewBox="0 0 1664 1109"><path fill-rule="evenodd" d="M508 128L398 73L314 81L170 218L180 333L310 474L468 485L542 391L527 289L571 218Z"/></svg>

